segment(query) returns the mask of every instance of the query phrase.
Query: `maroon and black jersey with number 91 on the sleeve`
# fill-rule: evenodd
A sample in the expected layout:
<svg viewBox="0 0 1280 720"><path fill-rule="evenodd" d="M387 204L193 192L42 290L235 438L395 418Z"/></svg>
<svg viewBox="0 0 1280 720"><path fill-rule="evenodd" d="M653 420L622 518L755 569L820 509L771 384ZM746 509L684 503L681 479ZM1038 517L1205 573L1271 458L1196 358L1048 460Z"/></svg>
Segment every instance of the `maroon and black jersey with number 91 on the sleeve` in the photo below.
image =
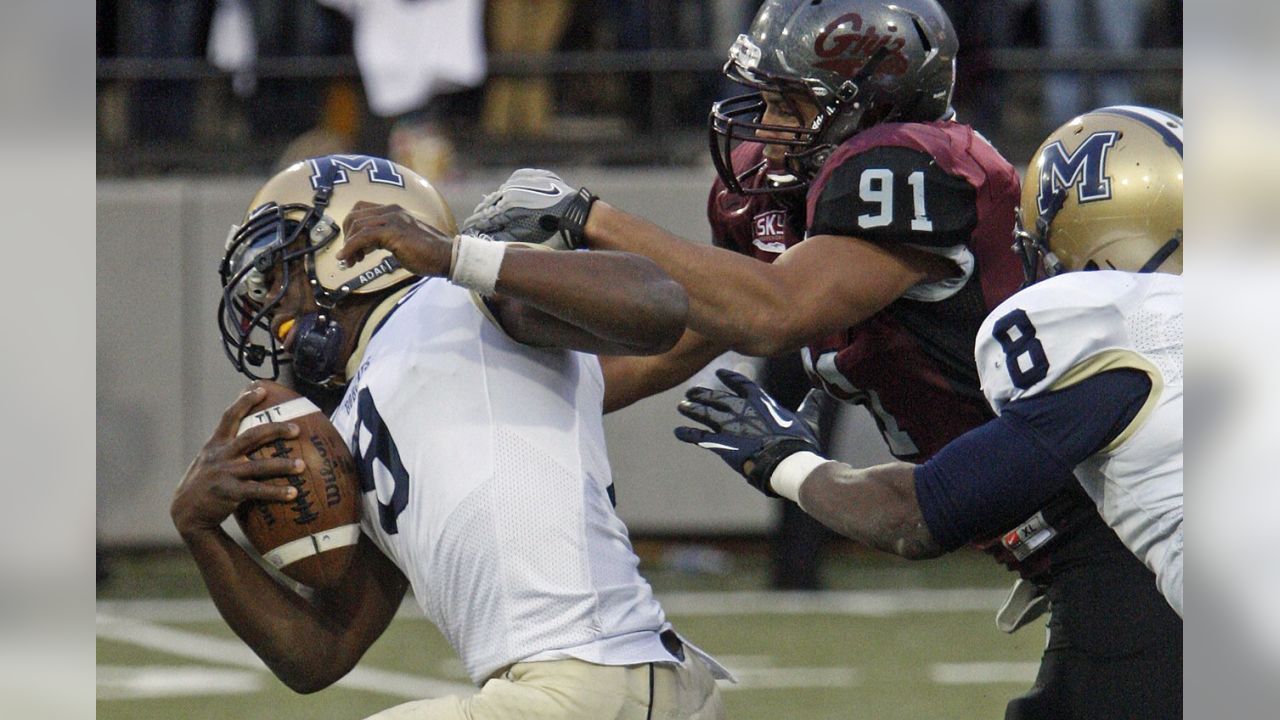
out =
<svg viewBox="0 0 1280 720"><path fill-rule="evenodd" d="M1018 202L1012 165L955 122L872 127L810 183L808 236L908 243L965 269L804 348L815 384L867 405L902 460L923 461L992 416L973 346L988 311L1023 279L1010 251Z"/></svg>

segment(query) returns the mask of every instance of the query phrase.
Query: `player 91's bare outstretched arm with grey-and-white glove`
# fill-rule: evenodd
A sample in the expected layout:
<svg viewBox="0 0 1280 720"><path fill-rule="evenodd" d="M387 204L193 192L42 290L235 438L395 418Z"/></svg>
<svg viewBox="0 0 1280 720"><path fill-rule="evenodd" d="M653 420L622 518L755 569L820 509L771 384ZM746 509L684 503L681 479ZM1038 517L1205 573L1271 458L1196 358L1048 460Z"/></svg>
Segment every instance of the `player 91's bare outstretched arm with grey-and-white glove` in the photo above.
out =
<svg viewBox="0 0 1280 720"><path fill-rule="evenodd" d="M690 328L755 356L855 325L913 286L959 273L940 255L854 237L838 223L841 232L815 233L764 264L681 240L548 170L516 170L465 224L506 240L650 258L689 292Z"/></svg>

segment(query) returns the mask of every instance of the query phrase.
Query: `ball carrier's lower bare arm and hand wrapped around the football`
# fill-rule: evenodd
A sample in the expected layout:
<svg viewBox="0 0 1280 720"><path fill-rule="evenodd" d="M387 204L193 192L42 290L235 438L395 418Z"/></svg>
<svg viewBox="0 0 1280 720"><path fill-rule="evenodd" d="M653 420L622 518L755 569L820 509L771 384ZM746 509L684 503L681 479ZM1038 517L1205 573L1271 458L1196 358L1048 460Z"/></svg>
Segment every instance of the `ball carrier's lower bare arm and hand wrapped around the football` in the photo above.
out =
<svg viewBox="0 0 1280 720"><path fill-rule="evenodd" d="M241 419L261 397L255 388L227 410L178 486L170 516L227 624L285 685L310 693L356 665L387 629L408 583L361 537L348 574L308 600L271 578L221 529L241 502L283 502L296 492L260 479L297 473L292 462L301 461L246 459L273 439L296 436L296 425L268 423L236 436Z"/></svg>

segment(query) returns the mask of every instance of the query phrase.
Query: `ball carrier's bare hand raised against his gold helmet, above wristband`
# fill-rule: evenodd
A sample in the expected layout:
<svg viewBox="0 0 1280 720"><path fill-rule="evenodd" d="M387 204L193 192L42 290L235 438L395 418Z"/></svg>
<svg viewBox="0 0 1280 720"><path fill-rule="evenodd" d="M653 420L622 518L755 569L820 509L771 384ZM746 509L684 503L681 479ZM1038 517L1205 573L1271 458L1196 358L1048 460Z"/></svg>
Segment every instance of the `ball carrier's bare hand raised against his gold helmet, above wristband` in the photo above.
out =
<svg viewBox="0 0 1280 720"><path fill-rule="evenodd" d="M337 259L348 266L381 249L415 275L439 278L449 274L453 236L424 223L399 205L356 202L342 223L342 234L347 241Z"/></svg>

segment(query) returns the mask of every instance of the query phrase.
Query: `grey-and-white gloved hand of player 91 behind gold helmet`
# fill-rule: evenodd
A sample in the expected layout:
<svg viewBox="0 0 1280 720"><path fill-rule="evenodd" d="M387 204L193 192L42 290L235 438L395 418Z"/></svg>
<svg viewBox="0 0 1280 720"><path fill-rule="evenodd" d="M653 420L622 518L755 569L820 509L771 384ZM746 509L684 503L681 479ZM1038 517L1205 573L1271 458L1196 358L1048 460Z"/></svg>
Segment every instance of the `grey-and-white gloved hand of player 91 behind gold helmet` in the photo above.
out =
<svg viewBox="0 0 1280 720"><path fill-rule="evenodd" d="M584 247L582 231L595 196L550 170L522 168L485 195L462 232L499 242L530 242L554 250Z"/></svg>

